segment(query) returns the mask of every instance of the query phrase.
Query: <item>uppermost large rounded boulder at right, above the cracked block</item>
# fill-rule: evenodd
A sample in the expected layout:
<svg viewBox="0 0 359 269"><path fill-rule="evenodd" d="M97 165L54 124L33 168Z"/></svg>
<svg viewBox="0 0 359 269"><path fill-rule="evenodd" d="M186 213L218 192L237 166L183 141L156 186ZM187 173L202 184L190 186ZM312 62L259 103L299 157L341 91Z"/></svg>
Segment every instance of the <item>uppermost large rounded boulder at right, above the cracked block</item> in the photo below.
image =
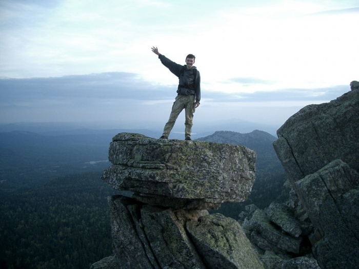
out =
<svg viewBox="0 0 359 269"><path fill-rule="evenodd" d="M301 109L277 136L273 146L292 183L335 159L359 171L359 90Z"/></svg>

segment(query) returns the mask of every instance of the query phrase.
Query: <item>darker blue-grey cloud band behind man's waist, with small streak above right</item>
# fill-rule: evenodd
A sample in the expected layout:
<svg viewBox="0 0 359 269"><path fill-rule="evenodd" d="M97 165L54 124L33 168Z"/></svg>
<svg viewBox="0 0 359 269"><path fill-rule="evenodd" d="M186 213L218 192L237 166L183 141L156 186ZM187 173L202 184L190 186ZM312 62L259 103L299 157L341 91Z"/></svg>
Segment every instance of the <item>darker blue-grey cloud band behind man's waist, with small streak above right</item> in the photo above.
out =
<svg viewBox="0 0 359 269"><path fill-rule="evenodd" d="M235 78L236 82L261 84L268 81L255 78ZM349 91L349 86L328 88L293 88L265 91L258 88L255 92L224 93L221 90L207 91L202 87L203 100L208 102L268 102L268 101L303 101L331 100ZM0 104L20 106L21 104L49 104L52 100L61 104L87 105L114 101L132 100L143 104L163 104L173 100L176 85L154 85L138 74L126 72L108 72L88 75L72 75L49 78L0 79Z"/></svg>

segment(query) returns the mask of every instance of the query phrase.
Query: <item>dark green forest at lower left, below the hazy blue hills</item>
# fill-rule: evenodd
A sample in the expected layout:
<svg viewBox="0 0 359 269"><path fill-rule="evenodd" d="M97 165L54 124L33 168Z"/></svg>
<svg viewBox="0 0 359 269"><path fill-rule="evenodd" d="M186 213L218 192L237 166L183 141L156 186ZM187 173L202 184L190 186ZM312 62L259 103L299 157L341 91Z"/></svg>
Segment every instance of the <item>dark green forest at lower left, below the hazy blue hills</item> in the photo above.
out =
<svg viewBox="0 0 359 269"><path fill-rule="evenodd" d="M89 268L112 254L101 172L61 176L42 187L2 192L0 268Z"/></svg>

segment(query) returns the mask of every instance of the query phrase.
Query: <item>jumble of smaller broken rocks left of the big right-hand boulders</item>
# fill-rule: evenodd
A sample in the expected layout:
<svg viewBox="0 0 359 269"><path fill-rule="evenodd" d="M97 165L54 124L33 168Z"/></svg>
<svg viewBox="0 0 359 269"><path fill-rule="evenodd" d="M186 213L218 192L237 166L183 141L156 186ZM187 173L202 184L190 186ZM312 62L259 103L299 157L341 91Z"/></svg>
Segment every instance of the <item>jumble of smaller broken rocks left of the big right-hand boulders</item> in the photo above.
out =
<svg viewBox="0 0 359 269"><path fill-rule="evenodd" d="M266 269L320 269L309 243L316 234L313 225L288 182L285 186L290 193L287 202L273 201L264 210L247 205L238 222Z"/></svg>

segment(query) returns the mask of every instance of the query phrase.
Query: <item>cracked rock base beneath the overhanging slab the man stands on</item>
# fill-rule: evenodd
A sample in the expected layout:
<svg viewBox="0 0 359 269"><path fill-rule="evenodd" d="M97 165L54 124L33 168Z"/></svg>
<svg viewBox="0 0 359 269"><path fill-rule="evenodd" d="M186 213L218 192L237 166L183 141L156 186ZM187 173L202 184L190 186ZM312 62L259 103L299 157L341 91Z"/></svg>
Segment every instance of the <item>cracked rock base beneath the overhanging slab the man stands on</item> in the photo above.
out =
<svg viewBox="0 0 359 269"><path fill-rule="evenodd" d="M263 269L234 219L123 196L111 197L109 205L117 268Z"/></svg>

